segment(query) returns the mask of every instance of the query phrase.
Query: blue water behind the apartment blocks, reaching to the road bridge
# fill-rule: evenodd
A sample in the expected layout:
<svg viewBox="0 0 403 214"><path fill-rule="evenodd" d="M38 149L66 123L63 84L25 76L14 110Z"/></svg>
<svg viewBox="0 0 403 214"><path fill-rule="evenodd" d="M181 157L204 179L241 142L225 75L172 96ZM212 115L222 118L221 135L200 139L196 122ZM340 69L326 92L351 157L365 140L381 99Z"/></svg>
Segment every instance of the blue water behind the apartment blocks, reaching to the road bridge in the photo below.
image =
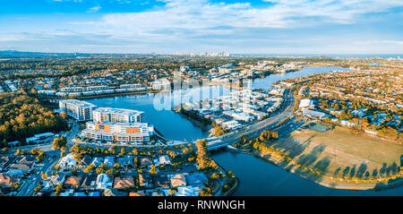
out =
<svg viewBox="0 0 403 214"><path fill-rule="evenodd" d="M211 86L158 94L95 98L87 101L98 107L119 107L143 111L145 122L153 124L166 138L195 141L206 138L209 132L201 130L183 116L171 111L171 107L187 101L224 96L229 92L230 90L227 88Z"/></svg>

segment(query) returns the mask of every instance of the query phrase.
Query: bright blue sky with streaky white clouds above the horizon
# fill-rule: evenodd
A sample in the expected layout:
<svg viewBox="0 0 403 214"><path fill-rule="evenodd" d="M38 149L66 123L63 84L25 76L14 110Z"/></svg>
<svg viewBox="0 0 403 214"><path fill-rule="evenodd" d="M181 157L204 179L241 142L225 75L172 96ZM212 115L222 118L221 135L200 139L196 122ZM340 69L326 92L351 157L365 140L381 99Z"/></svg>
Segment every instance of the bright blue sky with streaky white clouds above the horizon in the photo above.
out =
<svg viewBox="0 0 403 214"><path fill-rule="evenodd" d="M7 0L0 50L401 54L402 0Z"/></svg>

